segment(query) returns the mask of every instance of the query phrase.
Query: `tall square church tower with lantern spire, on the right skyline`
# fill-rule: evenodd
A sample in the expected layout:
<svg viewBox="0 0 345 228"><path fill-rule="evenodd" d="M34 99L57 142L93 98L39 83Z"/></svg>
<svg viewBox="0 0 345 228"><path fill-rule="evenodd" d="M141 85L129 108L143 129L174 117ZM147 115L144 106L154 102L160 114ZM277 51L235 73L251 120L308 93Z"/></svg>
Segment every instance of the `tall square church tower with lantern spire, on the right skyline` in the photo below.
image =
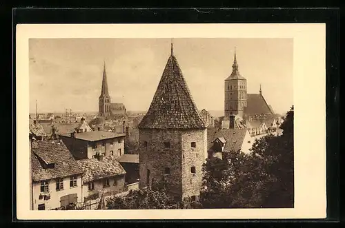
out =
<svg viewBox="0 0 345 228"><path fill-rule="evenodd" d="M247 80L239 74L236 50L233 72L225 79L224 84L224 116L238 115L243 118L244 107L247 106Z"/></svg>

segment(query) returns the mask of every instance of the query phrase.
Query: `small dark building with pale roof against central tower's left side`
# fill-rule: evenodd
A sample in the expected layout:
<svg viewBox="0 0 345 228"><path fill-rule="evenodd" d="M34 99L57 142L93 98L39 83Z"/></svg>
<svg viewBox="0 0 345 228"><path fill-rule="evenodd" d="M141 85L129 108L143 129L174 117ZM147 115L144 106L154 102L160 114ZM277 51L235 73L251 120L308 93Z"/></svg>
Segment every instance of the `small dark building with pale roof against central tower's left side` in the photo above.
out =
<svg viewBox="0 0 345 228"><path fill-rule="evenodd" d="M139 180L139 154L124 154L117 160L126 170L126 183L137 183Z"/></svg>

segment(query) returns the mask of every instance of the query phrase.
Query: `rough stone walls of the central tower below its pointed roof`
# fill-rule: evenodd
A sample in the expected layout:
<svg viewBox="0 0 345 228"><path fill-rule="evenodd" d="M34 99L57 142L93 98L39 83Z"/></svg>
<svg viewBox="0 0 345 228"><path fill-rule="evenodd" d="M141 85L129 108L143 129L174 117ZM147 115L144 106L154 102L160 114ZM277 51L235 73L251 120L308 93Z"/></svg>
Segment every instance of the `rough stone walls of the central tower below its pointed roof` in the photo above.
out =
<svg viewBox="0 0 345 228"><path fill-rule="evenodd" d="M172 196L199 195L201 167L207 158L205 130L139 129L139 187L147 185L147 170L152 178L168 183ZM146 143L147 142L147 146ZM170 143L166 148L164 142ZM195 148L191 143L195 142ZM191 173L191 167L196 173ZM170 169L170 174L166 174Z"/></svg>

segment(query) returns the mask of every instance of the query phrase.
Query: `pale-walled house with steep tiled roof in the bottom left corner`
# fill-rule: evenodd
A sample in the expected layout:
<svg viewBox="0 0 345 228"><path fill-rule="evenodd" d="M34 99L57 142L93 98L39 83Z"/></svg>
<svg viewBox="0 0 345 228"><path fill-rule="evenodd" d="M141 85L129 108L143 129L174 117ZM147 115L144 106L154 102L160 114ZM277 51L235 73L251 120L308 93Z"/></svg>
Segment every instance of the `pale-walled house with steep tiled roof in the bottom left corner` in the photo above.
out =
<svg viewBox="0 0 345 228"><path fill-rule="evenodd" d="M83 169L60 140L32 141L32 208L49 210L82 201Z"/></svg>

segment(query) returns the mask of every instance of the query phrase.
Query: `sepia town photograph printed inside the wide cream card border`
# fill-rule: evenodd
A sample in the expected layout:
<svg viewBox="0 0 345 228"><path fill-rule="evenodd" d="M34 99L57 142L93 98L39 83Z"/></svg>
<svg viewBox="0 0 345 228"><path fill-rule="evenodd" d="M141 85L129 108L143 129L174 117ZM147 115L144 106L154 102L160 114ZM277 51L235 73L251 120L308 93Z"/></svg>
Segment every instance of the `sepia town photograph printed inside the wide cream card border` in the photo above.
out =
<svg viewBox="0 0 345 228"><path fill-rule="evenodd" d="M28 39L30 211L295 209L295 48Z"/></svg>

